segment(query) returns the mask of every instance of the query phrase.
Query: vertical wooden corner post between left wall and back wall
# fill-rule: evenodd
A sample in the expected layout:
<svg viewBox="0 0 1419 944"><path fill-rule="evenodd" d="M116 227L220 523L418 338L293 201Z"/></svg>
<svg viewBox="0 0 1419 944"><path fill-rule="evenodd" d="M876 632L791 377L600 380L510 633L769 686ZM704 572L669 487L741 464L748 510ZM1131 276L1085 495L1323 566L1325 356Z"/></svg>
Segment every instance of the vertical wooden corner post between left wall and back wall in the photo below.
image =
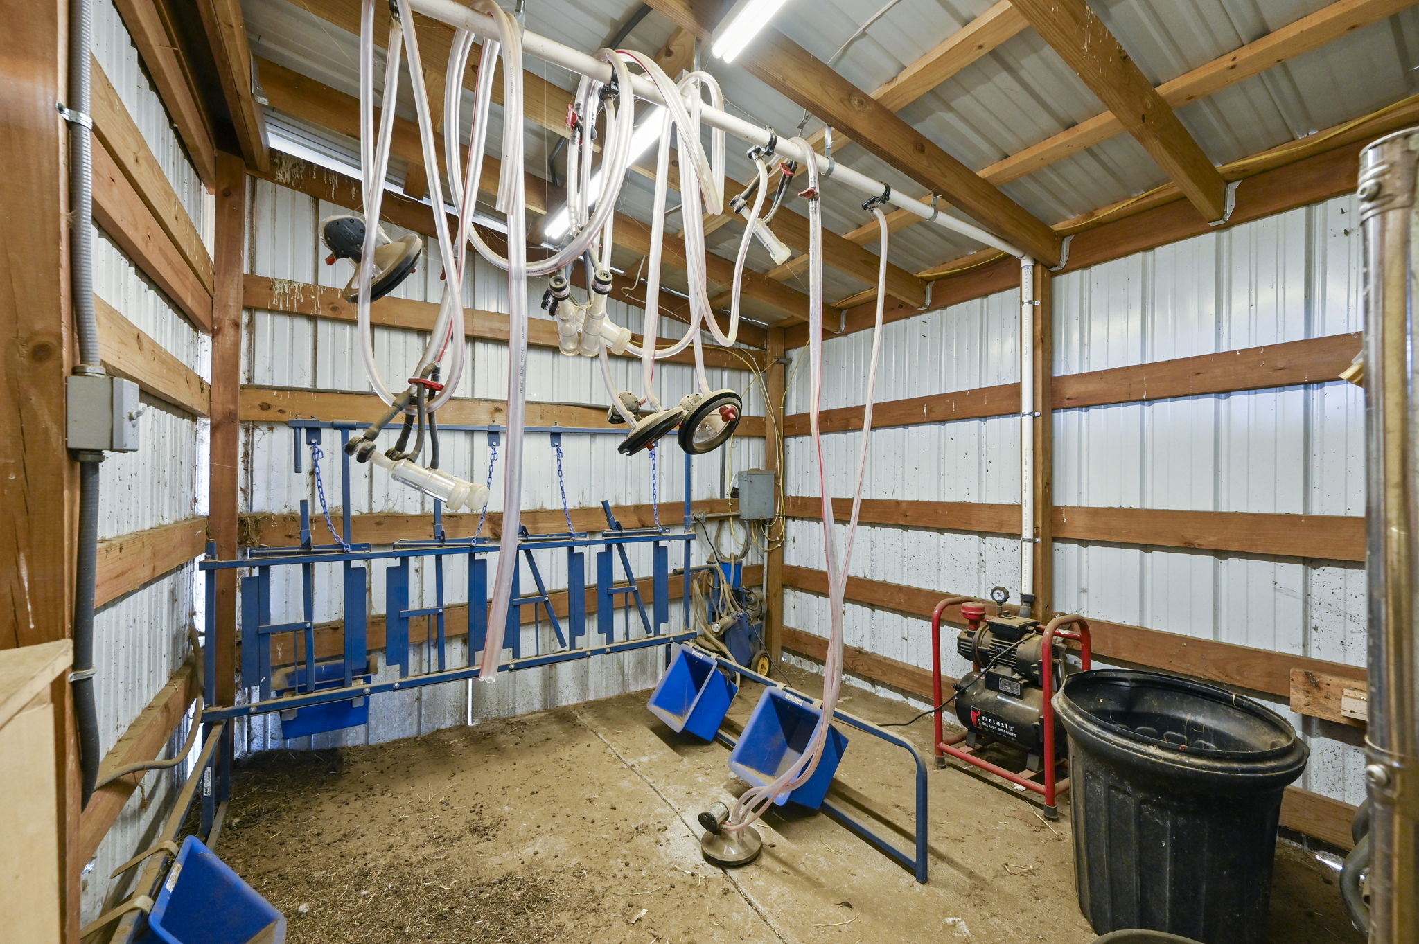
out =
<svg viewBox="0 0 1419 944"><path fill-rule="evenodd" d="M241 306L247 232L247 174L241 159L217 154L216 252L221 268L211 295L211 445L207 459L207 530L217 556L237 556L237 513L241 473ZM216 704L233 704L237 685L237 571L217 571L213 639L207 644L217 678L209 693Z"/></svg>

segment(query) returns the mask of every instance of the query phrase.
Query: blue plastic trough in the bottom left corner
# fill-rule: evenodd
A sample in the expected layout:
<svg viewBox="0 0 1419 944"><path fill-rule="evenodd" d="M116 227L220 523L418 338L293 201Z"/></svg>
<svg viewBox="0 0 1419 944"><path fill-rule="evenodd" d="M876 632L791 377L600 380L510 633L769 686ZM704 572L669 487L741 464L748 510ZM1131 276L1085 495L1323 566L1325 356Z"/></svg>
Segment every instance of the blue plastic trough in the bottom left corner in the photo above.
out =
<svg viewBox="0 0 1419 944"><path fill-rule="evenodd" d="M197 841L183 839L148 930L169 944L282 944L285 918Z"/></svg>

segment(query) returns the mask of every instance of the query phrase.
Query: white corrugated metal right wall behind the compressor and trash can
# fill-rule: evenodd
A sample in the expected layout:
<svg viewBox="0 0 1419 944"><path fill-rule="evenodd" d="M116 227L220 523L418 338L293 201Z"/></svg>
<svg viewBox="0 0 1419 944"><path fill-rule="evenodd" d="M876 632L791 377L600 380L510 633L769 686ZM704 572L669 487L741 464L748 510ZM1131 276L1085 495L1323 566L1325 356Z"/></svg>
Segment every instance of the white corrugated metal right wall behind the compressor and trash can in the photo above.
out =
<svg viewBox="0 0 1419 944"><path fill-rule="evenodd" d="M1359 235L1340 197L1132 255L1054 282L1054 373L1361 329ZM1019 378L1005 292L884 329L878 401ZM863 401L868 332L826 342L823 407ZM789 412L807 405L807 356ZM1054 502L1152 509L1364 515L1364 395L1341 381L1054 414ZM1019 500L1019 422L965 420L873 434L868 498ZM826 437L833 495L849 495L858 434ZM789 492L816 495L810 441L789 441ZM843 459L843 461L839 461ZM839 541L844 529L837 527ZM864 527L851 573L932 590L1016 587L1016 541ZM822 524L792 522L788 564L823 567ZM1057 541L1060 612L1330 659L1365 661L1364 567L1340 561ZM788 625L826 635L826 600L788 591ZM929 626L847 605L847 642L929 666ZM951 656L946 670L964 663ZM1351 729L1291 714L1313 755L1300 782L1364 799Z"/></svg>

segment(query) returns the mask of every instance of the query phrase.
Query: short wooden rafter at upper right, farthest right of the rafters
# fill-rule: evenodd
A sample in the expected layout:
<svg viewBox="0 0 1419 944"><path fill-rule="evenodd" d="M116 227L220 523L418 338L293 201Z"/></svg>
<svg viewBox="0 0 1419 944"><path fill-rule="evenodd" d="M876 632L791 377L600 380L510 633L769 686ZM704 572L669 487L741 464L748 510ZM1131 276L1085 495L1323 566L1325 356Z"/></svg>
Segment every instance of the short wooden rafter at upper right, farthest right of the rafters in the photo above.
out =
<svg viewBox="0 0 1419 944"><path fill-rule="evenodd" d="M1084 0L1012 0L1203 220L1226 213L1226 183L1114 34Z"/></svg>

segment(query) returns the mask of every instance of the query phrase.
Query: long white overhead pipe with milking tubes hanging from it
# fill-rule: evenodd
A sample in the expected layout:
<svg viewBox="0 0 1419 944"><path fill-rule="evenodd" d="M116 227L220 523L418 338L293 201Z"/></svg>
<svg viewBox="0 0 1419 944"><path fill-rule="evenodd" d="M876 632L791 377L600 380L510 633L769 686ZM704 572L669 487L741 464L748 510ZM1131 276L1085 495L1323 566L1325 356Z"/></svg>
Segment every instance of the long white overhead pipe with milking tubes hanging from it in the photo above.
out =
<svg viewBox="0 0 1419 944"><path fill-rule="evenodd" d="M470 10L468 7L460 6L454 0L410 0L410 6L427 17L477 33L478 35L494 38L498 35L497 24L492 21L491 16ZM586 52L573 50L569 45L563 45L556 40L538 35L536 33L524 31L522 48L528 55L534 55L543 62L551 62L552 65L558 65L570 72L587 75L599 82L610 82L610 65L602 62L593 55L587 55ZM631 77L630 85L637 96L658 105L668 105L667 99L660 94L660 89L657 89L656 84L650 79L639 75ZM749 142L751 145L768 145L773 137L773 132L761 128L759 125L749 123L741 118L735 118L734 115L718 108L705 106L701 112L701 118L705 125L718 128L729 135L734 135L735 137ZM795 143L788 137L780 137L775 145L775 150L789 160L796 160L799 163L807 163L809 160L815 162L819 174L824 177L832 176L834 183L843 184L864 196L876 197L883 194L887 189L887 186L880 180L874 180L846 164L832 163L829 159L809 147L806 142ZM1016 258L1025 257L1022 249L1017 249L988 230L956 220L951 214L937 213L937 210L929 204L921 203L912 197L891 193L887 197L887 203L918 215L928 223L935 223L939 227L969 237L990 248L1000 249L1002 252L1007 252Z"/></svg>

